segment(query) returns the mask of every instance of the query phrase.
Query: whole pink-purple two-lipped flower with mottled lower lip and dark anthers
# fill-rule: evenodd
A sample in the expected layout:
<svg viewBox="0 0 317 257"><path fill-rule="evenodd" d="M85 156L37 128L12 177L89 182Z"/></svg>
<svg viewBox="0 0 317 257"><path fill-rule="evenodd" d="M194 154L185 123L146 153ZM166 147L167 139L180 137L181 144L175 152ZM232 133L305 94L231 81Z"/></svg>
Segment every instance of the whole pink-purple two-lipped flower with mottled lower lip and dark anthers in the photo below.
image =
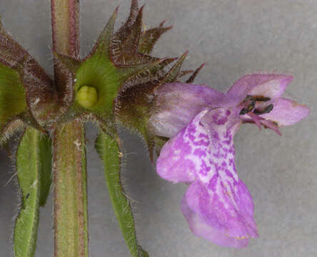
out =
<svg viewBox="0 0 317 257"><path fill-rule="evenodd" d="M256 238L253 201L238 178L233 136L242 123L281 134L309 114L306 106L281 98L292 76L252 74L227 94L208 86L166 84L156 91L150 124L170 137L157 160L159 176L190 183L181 210L196 236L241 248Z"/></svg>

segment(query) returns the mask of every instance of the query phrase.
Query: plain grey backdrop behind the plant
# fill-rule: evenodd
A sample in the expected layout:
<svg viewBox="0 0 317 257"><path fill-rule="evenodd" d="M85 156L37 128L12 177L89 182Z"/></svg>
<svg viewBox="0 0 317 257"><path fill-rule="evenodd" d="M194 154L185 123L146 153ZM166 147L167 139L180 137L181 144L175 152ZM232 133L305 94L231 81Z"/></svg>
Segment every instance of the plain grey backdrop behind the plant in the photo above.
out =
<svg viewBox="0 0 317 257"><path fill-rule="evenodd" d="M143 4L144 1L141 1ZM86 54L115 7L116 27L129 13L129 0L81 0L81 46ZM52 71L49 1L1 0L6 29ZM172 31L158 42L159 56L190 51L186 68L206 67L198 83L226 91L243 74L293 74L286 95L311 107L300 124L273 131L242 126L235 137L239 176L251 191L259 238L248 248L221 248L196 238L180 211L186 186L158 178L144 144L123 131L126 151L124 181L135 200L139 241L155 257L171 256L317 256L317 1L316 0L148 0L149 27L167 19ZM89 234L91 256L129 256L88 128ZM12 217L17 211L13 168L0 152L0 256L10 256ZM52 198L41 209L36 256L52 256Z"/></svg>

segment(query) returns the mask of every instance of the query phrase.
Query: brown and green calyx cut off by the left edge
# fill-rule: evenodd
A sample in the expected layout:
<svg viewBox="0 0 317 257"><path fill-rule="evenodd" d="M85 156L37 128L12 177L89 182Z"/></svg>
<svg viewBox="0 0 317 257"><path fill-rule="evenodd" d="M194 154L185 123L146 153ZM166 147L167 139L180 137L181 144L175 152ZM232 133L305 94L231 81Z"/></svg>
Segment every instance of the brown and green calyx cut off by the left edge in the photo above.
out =
<svg viewBox="0 0 317 257"><path fill-rule="evenodd" d="M49 76L0 21L0 144L26 124L44 131L54 115L54 100Z"/></svg>

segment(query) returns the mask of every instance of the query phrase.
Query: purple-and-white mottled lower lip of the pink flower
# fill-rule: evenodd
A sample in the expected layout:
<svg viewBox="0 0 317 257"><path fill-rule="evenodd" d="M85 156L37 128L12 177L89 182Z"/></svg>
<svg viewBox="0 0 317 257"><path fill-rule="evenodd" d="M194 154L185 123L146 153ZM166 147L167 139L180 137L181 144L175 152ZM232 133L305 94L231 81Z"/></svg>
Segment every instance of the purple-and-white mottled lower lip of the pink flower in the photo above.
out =
<svg viewBox="0 0 317 257"><path fill-rule="evenodd" d="M163 146L156 166L162 178L190 183L182 211L191 231L236 248L257 237L252 198L234 164L240 124L233 109L204 109Z"/></svg>

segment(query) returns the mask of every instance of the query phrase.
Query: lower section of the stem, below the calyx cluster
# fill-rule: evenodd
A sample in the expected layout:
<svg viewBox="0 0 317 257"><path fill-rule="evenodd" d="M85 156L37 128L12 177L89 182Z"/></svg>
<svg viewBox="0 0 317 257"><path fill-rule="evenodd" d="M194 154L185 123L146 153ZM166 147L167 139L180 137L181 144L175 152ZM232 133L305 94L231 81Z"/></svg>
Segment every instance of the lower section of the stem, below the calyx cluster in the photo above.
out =
<svg viewBox="0 0 317 257"><path fill-rule="evenodd" d="M84 128L71 121L54 132L55 256L88 256Z"/></svg>

